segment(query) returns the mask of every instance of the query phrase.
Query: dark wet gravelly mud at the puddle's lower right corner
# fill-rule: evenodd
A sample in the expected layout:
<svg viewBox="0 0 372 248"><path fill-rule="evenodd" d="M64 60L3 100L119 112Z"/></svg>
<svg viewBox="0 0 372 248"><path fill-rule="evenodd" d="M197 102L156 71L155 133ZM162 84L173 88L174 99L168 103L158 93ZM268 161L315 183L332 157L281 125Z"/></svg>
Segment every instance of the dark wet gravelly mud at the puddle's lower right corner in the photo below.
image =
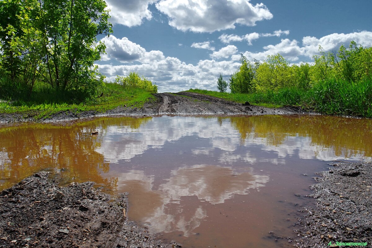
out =
<svg viewBox="0 0 372 248"><path fill-rule="evenodd" d="M372 247L372 164L337 163L318 175L319 183L310 186L317 206L305 209L306 218L297 223L295 247Z"/></svg>

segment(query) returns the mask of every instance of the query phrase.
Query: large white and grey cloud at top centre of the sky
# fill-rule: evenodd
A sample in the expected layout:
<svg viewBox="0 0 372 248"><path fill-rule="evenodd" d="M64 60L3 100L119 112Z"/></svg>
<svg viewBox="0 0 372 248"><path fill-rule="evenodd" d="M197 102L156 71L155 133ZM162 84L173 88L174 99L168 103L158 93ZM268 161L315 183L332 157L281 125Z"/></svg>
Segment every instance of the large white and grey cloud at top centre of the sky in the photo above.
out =
<svg viewBox="0 0 372 248"><path fill-rule="evenodd" d="M273 17L264 4L249 0L160 0L156 7L169 17L170 26L192 32L234 29L235 24L254 26Z"/></svg>

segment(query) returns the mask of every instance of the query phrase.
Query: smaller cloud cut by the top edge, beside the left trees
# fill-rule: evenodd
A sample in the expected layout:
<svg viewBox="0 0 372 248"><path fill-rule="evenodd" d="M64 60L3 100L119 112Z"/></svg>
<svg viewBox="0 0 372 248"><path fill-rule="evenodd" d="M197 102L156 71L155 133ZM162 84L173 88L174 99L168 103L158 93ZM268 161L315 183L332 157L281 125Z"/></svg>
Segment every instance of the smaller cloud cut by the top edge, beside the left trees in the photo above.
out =
<svg viewBox="0 0 372 248"><path fill-rule="evenodd" d="M111 9L110 21L128 27L141 25L144 18L150 20L153 16L148 5L155 2L156 0L106 0L107 7Z"/></svg>

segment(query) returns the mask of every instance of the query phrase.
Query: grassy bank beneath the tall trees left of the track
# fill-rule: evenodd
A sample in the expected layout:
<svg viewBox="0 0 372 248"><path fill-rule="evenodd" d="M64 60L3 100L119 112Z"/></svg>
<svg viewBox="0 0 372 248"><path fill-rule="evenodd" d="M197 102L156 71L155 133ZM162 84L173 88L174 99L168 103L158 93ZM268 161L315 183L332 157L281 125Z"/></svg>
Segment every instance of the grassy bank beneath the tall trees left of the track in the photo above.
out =
<svg viewBox="0 0 372 248"><path fill-rule="evenodd" d="M118 106L142 107L153 95L140 88L124 88L119 84L105 83L98 92L102 97L93 96L81 99L81 97L66 93L55 93L48 88L35 88L32 97L20 97L14 99L12 95L6 95L6 89L2 89L0 99L0 113L18 113L35 120L45 119L55 113L71 111L74 113L84 111L105 112ZM20 96L24 96L20 94ZM5 101L6 102L5 102Z"/></svg>

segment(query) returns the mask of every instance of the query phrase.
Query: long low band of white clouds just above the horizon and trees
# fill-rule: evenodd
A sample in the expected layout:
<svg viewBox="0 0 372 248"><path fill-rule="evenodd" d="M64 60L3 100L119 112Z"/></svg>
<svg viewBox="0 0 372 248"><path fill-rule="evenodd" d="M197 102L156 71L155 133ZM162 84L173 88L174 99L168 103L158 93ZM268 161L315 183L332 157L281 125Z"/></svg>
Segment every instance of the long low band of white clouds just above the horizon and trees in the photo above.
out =
<svg viewBox="0 0 372 248"><path fill-rule="evenodd" d="M275 32L274 32L275 33ZM126 38L117 39L115 36L105 38L111 42L106 51L106 59L117 59L119 61L140 62L142 64L124 65L99 65L101 73L109 80L116 75L128 75L136 71L151 81L156 82L160 92L182 91L189 88L217 89L216 79L221 73L228 76L236 71L240 65L240 55L236 54L236 46L228 45L219 51L214 51L210 56L212 59L200 60L195 65L186 64L178 58L165 57L161 51L147 52L140 45L129 41ZM282 39L278 44L264 46L260 52L246 51L243 54L250 60L266 59L267 55L281 54L291 62L298 61L300 57L317 54L318 45L322 45L326 51L337 49L341 44L348 45L354 40L363 46L371 46L372 32L362 31L349 34L331 34L321 38L304 37L301 42L290 39ZM219 59L225 60L219 61ZM218 61L217 61L218 59Z"/></svg>

